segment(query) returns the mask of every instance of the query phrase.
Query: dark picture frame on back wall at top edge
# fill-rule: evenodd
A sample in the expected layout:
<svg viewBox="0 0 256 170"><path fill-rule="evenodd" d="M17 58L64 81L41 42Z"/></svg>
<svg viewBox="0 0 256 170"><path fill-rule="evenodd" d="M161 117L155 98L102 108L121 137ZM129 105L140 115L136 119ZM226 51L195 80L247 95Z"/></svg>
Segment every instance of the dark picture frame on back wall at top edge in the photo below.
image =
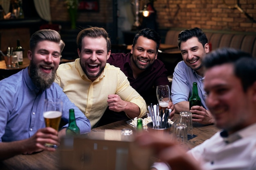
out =
<svg viewBox="0 0 256 170"><path fill-rule="evenodd" d="M78 9L80 11L99 12L99 0L81 0Z"/></svg>

